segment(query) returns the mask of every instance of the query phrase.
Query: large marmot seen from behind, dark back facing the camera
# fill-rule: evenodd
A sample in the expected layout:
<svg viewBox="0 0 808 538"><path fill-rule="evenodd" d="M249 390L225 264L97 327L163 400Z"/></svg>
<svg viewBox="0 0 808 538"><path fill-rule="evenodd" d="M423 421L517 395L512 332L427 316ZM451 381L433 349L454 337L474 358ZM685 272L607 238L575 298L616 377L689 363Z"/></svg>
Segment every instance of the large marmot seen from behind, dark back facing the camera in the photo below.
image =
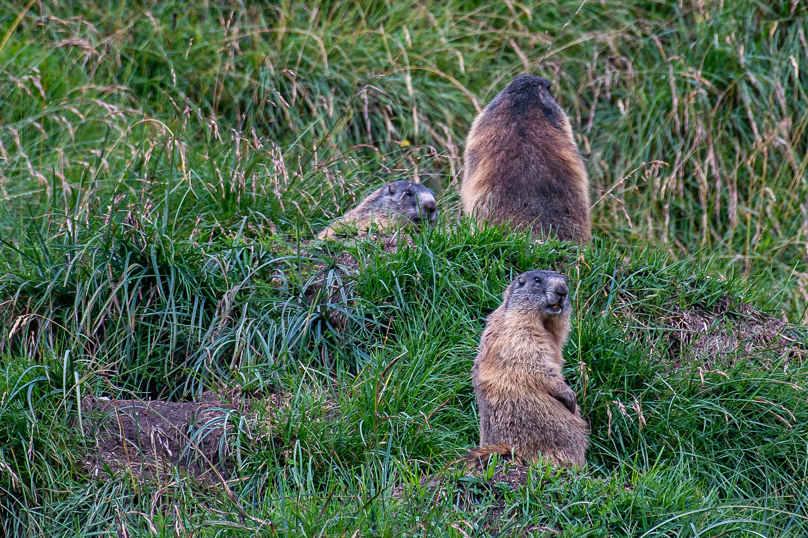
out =
<svg viewBox="0 0 808 538"><path fill-rule="evenodd" d="M514 78L477 116L465 141L461 202L482 224L587 243L589 178L566 113L545 78Z"/></svg>

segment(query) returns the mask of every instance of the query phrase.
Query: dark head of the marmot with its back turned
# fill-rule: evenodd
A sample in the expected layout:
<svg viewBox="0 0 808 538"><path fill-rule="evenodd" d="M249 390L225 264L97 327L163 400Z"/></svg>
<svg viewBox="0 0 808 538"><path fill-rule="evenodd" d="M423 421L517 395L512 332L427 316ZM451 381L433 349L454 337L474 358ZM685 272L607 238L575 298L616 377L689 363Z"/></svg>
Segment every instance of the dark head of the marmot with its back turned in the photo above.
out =
<svg viewBox="0 0 808 538"><path fill-rule="evenodd" d="M564 130L566 114L553 99L553 95L550 95L549 89L550 82L546 78L521 74L494 97L484 115L499 116L500 120L507 120L507 116L511 116L512 122L516 118L521 119L541 111L550 125Z"/></svg>

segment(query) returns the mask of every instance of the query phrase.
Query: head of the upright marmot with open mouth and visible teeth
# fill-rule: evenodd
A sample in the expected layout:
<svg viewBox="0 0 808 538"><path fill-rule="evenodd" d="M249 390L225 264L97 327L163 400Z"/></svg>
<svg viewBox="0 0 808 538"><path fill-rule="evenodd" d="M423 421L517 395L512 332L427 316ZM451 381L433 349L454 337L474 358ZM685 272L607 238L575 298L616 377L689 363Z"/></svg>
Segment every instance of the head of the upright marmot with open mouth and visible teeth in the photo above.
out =
<svg viewBox="0 0 808 538"><path fill-rule="evenodd" d="M505 309L547 319L569 319L570 286L566 276L553 271L528 271L516 276L505 292Z"/></svg>

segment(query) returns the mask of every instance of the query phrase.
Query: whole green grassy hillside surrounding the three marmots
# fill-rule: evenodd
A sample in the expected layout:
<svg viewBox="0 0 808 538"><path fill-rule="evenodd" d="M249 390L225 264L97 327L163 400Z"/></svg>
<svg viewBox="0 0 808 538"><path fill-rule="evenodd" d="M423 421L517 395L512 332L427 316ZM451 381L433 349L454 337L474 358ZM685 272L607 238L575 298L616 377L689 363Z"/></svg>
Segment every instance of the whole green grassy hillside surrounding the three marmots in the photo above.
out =
<svg viewBox="0 0 808 538"><path fill-rule="evenodd" d="M62 3L0 2L7 534L806 535L802 3ZM465 133L525 71L587 161L586 249L457 221ZM309 243L416 176L412 248ZM539 267L592 448L508 490L461 477L469 373ZM82 398L207 390L240 402L221 476L94 460Z"/></svg>

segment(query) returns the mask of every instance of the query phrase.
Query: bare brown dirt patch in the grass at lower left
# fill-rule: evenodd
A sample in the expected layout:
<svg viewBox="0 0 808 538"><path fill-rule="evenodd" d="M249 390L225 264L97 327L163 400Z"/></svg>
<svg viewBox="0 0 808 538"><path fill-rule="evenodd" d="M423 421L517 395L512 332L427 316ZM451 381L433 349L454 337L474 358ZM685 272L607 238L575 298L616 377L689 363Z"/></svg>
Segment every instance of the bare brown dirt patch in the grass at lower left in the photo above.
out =
<svg viewBox="0 0 808 538"><path fill-rule="evenodd" d="M197 480L220 481L231 465L228 437L235 435L241 404L212 391L185 402L84 397L84 433L98 442L86 464L97 476L108 468L162 477L179 467Z"/></svg>

